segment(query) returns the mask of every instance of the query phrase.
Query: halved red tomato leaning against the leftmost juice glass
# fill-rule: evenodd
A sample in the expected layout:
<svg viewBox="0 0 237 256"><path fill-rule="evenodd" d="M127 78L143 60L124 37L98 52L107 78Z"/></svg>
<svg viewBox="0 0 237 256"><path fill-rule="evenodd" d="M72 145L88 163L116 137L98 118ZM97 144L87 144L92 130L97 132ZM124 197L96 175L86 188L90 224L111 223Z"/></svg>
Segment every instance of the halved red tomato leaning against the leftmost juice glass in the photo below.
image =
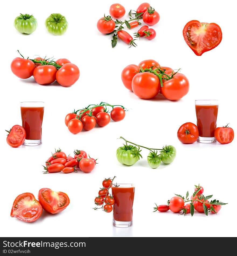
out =
<svg viewBox="0 0 237 256"><path fill-rule="evenodd" d="M26 131L22 126L16 124L12 126L10 131L6 130L6 132L8 132L6 142L9 146L17 148L24 143L26 138Z"/></svg>

